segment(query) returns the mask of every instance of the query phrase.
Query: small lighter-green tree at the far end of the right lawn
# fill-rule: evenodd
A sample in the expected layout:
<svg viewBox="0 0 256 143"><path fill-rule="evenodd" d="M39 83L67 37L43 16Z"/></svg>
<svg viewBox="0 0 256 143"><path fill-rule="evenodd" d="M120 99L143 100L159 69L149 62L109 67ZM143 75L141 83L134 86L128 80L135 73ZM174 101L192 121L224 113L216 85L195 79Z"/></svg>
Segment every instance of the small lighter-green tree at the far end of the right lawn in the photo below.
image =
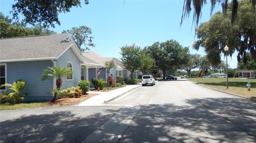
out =
<svg viewBox="0 0 256 143"><path fill-rule="evenodd" d="M189 54L187 56L188 61L182 65L182 69L188 72L188 77L190 77L191 70L198 68L200 57L201 55L199 54Z"/></svg>

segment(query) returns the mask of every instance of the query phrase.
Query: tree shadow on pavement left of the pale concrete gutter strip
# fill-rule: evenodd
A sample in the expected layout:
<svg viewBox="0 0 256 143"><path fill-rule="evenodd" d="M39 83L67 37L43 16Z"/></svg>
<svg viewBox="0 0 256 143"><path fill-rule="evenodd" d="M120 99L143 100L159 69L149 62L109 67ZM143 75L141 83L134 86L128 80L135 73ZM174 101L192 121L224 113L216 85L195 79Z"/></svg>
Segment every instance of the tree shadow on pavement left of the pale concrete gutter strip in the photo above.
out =
<svg viewBox="0 0 256 143"><path fill-rule="evenodd" d="M82 142L111 116L97 113L79 117L70 111L21 116L1 122L0 142Z"/></svg>

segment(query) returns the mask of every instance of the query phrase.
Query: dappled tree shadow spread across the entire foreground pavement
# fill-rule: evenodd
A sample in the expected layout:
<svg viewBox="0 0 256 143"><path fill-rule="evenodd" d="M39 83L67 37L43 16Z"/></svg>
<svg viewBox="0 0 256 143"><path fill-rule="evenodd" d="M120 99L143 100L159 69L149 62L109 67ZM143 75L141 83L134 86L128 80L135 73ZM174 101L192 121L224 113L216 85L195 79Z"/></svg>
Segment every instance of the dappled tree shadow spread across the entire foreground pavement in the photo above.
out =
<svg viewBox="0 0 256 143"><path fill-rule="evenodd" d="M119 142L256 142L255 111L256 103L241 98L141 105ZM22 116L1 122L1 141L81 142L111 115L94 113L81 117L62 111ZM113 136L108 132L99 134Z"/></svg>

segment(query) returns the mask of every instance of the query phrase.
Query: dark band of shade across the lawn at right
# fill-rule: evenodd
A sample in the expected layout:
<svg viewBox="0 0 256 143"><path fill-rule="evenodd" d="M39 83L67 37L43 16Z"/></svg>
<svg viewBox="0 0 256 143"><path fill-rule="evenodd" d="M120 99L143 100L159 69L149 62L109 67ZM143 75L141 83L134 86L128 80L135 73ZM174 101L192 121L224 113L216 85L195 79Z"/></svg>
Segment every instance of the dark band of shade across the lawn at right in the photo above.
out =
<svg viewBox="0 0 256 143"><path fill-rule="evenodd" d="M227 82L197 82L198 84L212 85L212 86L227 86ZM248 82L229 81L228 86L232 87L246 87ZM255 88L256 84L251 84L251 88Z"/></svg>

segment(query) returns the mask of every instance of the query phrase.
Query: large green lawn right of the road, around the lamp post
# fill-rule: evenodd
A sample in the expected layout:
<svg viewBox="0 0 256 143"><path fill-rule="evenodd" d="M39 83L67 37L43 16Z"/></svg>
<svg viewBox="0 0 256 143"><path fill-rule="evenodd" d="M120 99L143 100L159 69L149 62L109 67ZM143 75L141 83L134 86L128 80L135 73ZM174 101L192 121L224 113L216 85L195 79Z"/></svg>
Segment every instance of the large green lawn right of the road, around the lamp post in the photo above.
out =
<svg viewBox="0 0 256 143"><path fill-rule="evenodd" d="M256 97L256 79L228 78L228 89L226 87L226 78L188 78L188 80L214 89L233 92L234 94L247 97ZM247 91L247 82L251 82L251 91Z"/></svg>

